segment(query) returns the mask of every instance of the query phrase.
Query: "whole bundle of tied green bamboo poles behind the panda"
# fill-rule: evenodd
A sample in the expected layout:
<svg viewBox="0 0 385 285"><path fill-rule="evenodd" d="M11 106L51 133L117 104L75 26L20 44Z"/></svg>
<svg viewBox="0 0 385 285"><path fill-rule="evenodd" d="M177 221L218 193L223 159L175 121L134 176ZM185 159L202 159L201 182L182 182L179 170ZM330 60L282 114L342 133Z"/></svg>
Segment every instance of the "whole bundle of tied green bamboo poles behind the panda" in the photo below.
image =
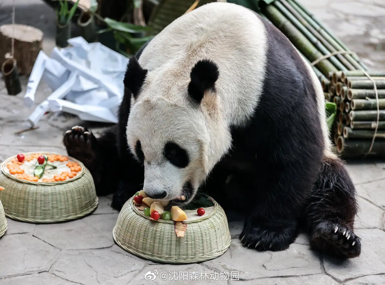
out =
<svg viewBox="0 0 385 285"><path fill-rule="evenodd" d="M325 101L336 104L331 128L336 151L342 157L385 152L385 71L368 71L298 0L259 1L259 8L264 19L280 29L310 63Z"/></svg>

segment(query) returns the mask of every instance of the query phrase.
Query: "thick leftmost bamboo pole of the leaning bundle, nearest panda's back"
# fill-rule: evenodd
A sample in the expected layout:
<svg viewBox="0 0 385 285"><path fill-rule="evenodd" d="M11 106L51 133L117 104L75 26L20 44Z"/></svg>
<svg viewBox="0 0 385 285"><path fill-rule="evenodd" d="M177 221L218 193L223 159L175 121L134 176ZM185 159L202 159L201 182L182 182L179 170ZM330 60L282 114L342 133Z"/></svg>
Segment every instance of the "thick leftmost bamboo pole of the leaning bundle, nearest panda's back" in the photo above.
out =
<svg viewBox="0 0 385 285"><path fill-rule="evenodd" d="M313 62L323 56L311 42L301 34L298 29L288 21L280 11L274 5L261 5L262 12L268 17L273 24L278 27L283 34L302 52L309 61ZM330 71L337 71L335 66L331 64L327 59L323 59L316 64L316 67L319 71L322 72L325 76L328 75Z"/></svg>

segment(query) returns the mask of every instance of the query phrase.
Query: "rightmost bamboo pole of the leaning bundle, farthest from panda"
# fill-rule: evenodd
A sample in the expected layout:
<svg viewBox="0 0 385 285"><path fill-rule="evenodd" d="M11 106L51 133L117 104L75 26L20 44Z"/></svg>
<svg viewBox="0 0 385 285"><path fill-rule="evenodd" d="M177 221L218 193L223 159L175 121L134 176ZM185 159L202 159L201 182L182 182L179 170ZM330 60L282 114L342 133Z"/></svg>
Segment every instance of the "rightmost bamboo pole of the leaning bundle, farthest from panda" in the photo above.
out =
<svg viewBox="0 0 385 285"><path fill-rule="evenodd" d="M292 5L303 17L316 29L321 33L325 39L327 39L338 51L349 51L348 47L341 42L338 37L336 37L328 28L326 28L321 22L319 22L313 14L308 12L305 7L301 3L296 0L288 0L290 5ZM368 70L368 68L363 64L363 62L358 58L356 54L345 54L346 58L352 63L356 69L364 69Z"/></svg>

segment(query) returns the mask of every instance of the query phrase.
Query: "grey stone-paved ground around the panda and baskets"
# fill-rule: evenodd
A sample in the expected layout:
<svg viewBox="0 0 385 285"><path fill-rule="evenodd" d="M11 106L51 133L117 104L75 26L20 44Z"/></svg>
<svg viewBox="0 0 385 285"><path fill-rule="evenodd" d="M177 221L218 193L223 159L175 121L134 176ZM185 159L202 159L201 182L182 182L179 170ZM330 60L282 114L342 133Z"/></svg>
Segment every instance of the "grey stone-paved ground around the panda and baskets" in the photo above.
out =
<svg viewBox="0 0 385 285"><path fill-rule="evenodd" d="M39 0L17 0L18 23L34 25L45 33L44 50L53 47L54 13ZM372 69L385 64L385 3L383 0L302 0ZM354 3L353 3L354 2ZM2 12L10 11L5 0ZM28 5L26 5L28 3ZM8 6L7 6L8 5ZM1 15L2 13L0 13ZM2 17L0 16L0 19ZM10 19L3 22L8 23ZM2 24L2 23L0 23ZM25 91L26 79L23 79ZM48 115L40 128L15 135L28 127L32 110L22 105L24 91L8 96L0 81L0 162L18 152L52 150L64 152L62 133L81 123L69 115ZM37 104L48 94L41 84ZM37 105L36 104L36 105ZM88 124L97 132L102 125ZM8 231L0 239L2 285L137 285L176 284L177 281L144 280L151 270L160 272L239 272L238 280L178 281L183 284L243 285L383 285L385 284L385 163L349 163L357 186L361 212L356 233L362 238L362 255L340 261L309 249L301 234L286 251L258 253L241 247L241 222L229 215L233 240L223 256L201 264L159 265L142 260L114 245L112 228L118 216L110 208L111 197L102 197L90 216L62 224L35 225L8 219ZM215 275L214 275L215 276ZM202 279L199 277L199 279ZM234 278L233 278L234 279Z"/></svg>

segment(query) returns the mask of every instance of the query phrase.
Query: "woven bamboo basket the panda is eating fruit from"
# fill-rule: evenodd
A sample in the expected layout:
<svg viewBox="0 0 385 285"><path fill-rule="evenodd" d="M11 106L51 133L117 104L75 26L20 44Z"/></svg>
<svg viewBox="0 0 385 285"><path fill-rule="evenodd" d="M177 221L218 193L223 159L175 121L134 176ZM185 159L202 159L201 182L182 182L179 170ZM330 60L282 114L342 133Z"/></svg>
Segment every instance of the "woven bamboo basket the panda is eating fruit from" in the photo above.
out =
<svg viewBox="0 0 385 285"><path fill-rule="evenodd" d="M186 210L186 233L177 237L175 222L151 221L134 205L133 198L122 207L113 237L124 250L148 260L161 263L197 263L216 258L229 248L231 235L226 214L219 204L196 210Z"/></svg>

